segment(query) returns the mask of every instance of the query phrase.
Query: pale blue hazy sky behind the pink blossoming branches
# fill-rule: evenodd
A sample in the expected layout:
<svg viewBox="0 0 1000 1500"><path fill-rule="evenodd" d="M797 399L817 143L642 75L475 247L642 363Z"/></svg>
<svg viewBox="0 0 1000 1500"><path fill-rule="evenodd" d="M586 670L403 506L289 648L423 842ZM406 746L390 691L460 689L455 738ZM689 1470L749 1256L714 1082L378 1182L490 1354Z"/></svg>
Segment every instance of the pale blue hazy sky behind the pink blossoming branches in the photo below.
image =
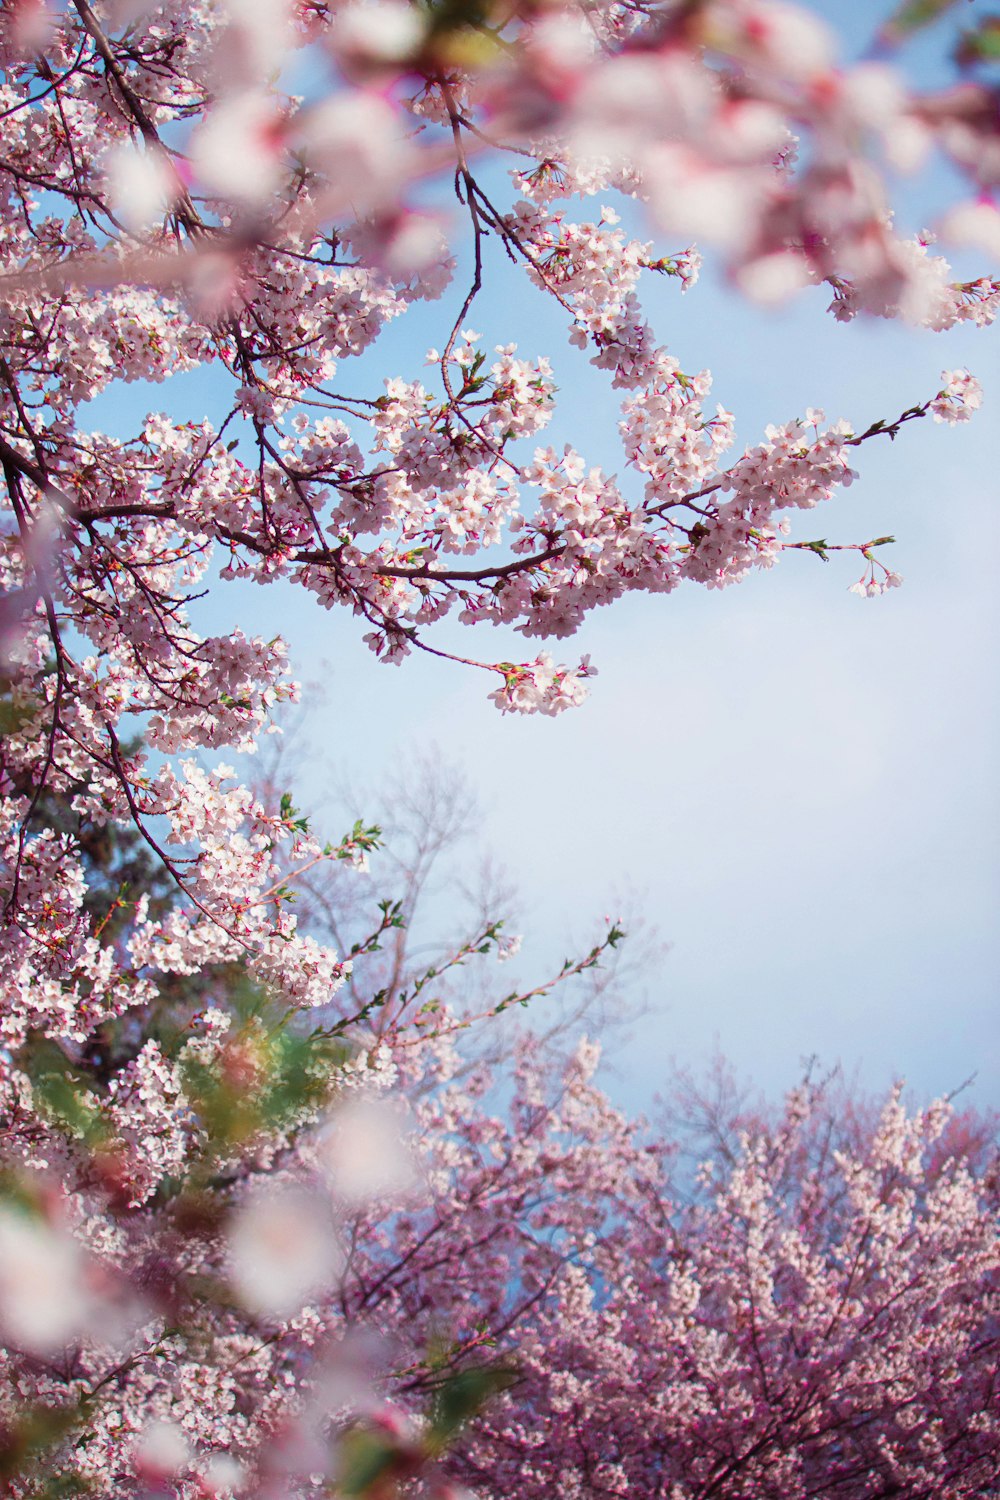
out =
<svg viewBox="0 0 1000 1500"><path fill-rule="evenodd" d="M517 339L550 354L550 438L621 470L616 394L570 350L561 316L495 261L499 296L469 324L487 348ZM925 420L867 444L861 482L796 516L801 538L898 537L886 561L903 590L859 600L855 558L792 554L724 592L627 600L555 644L600 668L591 700L558 720L502 718L484 674L426 657L384 668L357 621L297 590L232 586L211 626L280 628L301 678L324 682L301 801L322 808L345 776L378 788L432 748L465 772L478 844L520 886L531 964L562 957L568 933L585 940L633 892L672 950L610 1083L624 1102L646 1102L670 1058L697 1066L715 1042L769 1092L819 1053L921 1094L978 1072L976 1096L1000 1102L997 332L843 327L822 291L762 314L708 273L687 297L673 284L649 292L657 332L688 370L712 369L742 442L810 405L861 430L931 396L942 369L979 375L973 423ZM420 374L454 302L420 312L358 375L345 368L345 388ZM198 417L204 393L201 378L177 381L150 404ZM538 648L451 626L448 640L487 660Z"/></svg>

